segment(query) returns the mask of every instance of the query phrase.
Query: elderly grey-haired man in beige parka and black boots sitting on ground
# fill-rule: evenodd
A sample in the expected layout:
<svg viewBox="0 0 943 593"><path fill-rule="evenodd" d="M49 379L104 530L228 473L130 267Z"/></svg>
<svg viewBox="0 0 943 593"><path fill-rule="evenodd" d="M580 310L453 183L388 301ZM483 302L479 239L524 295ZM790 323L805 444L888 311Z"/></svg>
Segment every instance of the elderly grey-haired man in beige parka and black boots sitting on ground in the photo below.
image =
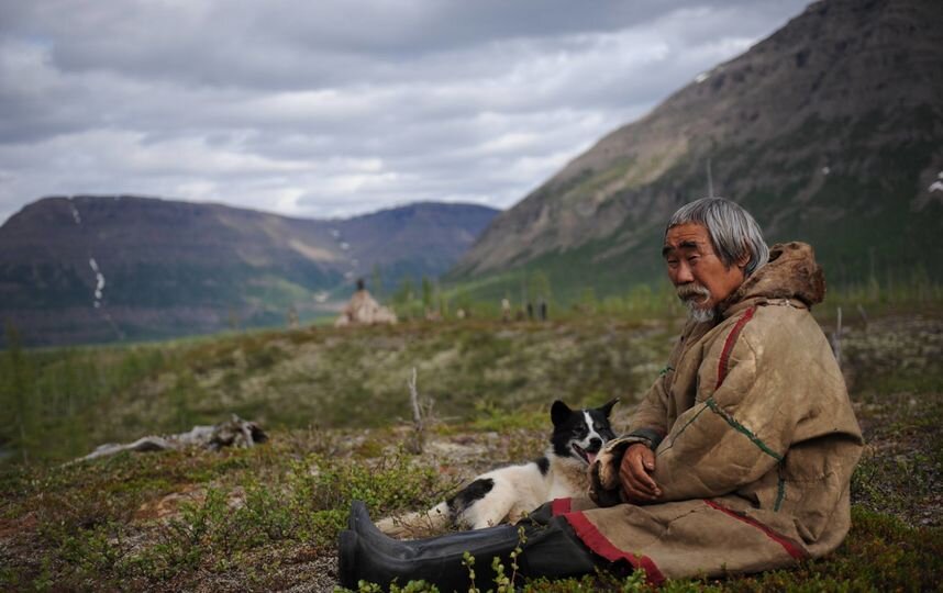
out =
<svg viewBox="0 0 943 593"><path fill-rule="evenodd" d="M563 578L644 569L650 581L788 567L835 549L851 517L861 430L809 309L824 295L812 249L767 249L739 205L703 199L668 222L662 253L690 318L668 365L590 468L585 500L557 500L518 528L396 541L355 503L341 583L423 579L488 586L495 557Z"/></svg>

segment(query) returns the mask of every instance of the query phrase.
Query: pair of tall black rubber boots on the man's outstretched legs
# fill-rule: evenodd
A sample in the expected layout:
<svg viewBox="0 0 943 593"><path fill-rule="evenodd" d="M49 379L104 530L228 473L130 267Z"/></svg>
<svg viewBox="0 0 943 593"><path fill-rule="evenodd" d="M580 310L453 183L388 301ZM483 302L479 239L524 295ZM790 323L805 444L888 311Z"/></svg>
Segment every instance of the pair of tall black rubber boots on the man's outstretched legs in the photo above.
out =
<svg viewBox="0 0 943 593"><path fill-rule="evenodd" d="M423 580L443 592L468 591L469 571L463 566L466 551L475 558L475 584L482 590L495 588L495 557L501 559L504 574L511 575L510 555L519 546L519 578L576 577L593 572L597 561L602 561L559 517L547 525L524 525L523 544L513 525L398 541L380 533L366 510L356 504L348 525L353 529L341 534L339 545L341 584L348 589L356 589L360 580L388 588L396 579L400 585Z"/></svg>

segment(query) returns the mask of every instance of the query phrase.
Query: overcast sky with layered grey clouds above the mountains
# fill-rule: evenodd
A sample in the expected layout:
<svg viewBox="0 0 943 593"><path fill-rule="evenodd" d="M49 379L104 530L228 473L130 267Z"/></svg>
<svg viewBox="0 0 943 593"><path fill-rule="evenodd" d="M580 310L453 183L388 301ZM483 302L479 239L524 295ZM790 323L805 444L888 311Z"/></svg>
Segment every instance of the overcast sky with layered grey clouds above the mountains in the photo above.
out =
<svg viewBox="0 0 943 593"><path fill-rule="evenodd" d="M0 222L133 193L508 208L805 0L0 0Z"/></svg>

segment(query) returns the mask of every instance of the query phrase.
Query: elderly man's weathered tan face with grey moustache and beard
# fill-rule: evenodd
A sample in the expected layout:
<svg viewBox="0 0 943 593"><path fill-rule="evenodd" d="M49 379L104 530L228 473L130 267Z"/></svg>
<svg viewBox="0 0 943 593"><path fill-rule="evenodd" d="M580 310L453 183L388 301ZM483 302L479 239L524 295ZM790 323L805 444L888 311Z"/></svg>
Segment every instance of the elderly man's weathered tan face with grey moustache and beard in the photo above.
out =
<svg viewBox="0 0 943 593"><path fill-rule="evenodd" d="M728 268L713 250L707 228L685 223L668 228L662 255L668 265L668 278L678 296L698 321L713 317L713 309L743 283L743 261Z"/></svg>

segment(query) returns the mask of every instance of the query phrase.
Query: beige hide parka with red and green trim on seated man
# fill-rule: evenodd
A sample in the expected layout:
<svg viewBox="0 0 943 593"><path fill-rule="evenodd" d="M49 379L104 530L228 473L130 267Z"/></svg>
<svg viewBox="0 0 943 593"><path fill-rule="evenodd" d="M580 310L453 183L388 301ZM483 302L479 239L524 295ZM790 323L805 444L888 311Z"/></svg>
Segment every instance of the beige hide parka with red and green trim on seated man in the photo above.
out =
<svg viewBox="0 0 943 593"><path fill-rule="evenodd" d="M845 383L810 314L811 247L774 246L714 323L689 323L668 366L592 468L592 500L552 505L596 553L666 578L757 572L834 550L863 447ZM622 502L621 452L655 451L654 504ZM595 502L593 502L595 500Z"/></svg>

